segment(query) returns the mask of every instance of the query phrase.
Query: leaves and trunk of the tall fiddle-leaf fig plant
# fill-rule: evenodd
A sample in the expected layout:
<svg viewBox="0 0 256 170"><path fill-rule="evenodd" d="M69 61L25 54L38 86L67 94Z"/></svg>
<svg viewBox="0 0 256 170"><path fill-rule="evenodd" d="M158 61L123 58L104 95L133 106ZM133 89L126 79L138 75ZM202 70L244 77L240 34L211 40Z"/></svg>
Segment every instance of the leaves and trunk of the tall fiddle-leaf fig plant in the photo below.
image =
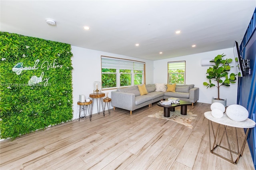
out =
<svg viewBox="0 0 256 170"><path fill-rule="evenodd" d="M232 59L223 59L223 57L226 55L217 55L214 59L212 59L210 62L214 63L215 65L213 67L209 67L207 69L206 76L207 79L209 79L208 82L204 82L203 84L208 87L217 87L218 89L218 98L217 100L220 100L220 87L221 86L230 86L230 83L236 83L236 74L230 73L228 75L228 71L230 71L230 65L229 63L232 62ZM212 82L212 80L214 82Z"/></svg>

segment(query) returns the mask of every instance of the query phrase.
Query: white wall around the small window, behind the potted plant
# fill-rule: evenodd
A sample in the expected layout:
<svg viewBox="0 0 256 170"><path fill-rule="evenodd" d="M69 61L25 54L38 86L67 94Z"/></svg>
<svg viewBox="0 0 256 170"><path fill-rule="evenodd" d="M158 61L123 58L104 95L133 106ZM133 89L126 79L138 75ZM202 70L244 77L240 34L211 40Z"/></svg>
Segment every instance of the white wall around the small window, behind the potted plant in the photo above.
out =
<svg viewBox="0 0 256 170"><path fill-rule="evenodd" d="M167 83L168 81L168 67L167 63L170 61L186 61L186 84L194 84L195 87L199 87L199 100L201 103L212 103L212 97L216 98L218 91L216 87L209 87L203 85L203 82L208 82L206 79L206 71L210 66L201 66L201 59L214 59L218 54L226 54L225 58L233 59L230 66L230 73L237 74L233 48L221 49L216 51L209 51L205 53L198 53L193 55L186 55L182 57L175 57L169 59L162 59L154 61L154 83ZM238 81L235 84L231 84L230 87L220 87L220 98L227 99L227 106L236 104L237 99L237 87Z"/></svg>

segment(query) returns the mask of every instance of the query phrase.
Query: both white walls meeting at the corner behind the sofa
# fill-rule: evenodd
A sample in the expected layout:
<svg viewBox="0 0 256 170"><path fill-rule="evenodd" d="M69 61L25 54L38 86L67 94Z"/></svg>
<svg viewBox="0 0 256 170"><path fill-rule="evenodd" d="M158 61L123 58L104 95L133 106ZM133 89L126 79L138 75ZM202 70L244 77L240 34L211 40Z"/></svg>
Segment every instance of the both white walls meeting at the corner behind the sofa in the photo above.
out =
<svg viewBox="0 0 256 170"><path fill-rule="evenodd" d="M149 83L167 83L167 63L169 61L186 61L186 84L194 84L195 87L199 87L199 100L201 103L212 103L212 97L217 97L217 88L212 87L206 89L203 85L206 79L206 70L209 66L201 66L201 59L214 59L218 54L226 54L226 58L232 58L233 61L230 64L235 66L233 48L221 49L217 51L209 51L205 53L198 53L193 55L186 55L182 57L175 57L169 59L162 59L157 61L150 61L145 59L139 59L129 57L125 55L118 55L114 53L107 53L103 51L96 51L92 49L85 49L81 47L72 46L72 66L74 68L72 72L73 82L73 119L78 118L79 107L77 101L79 101L79 95L83 94L86 98L89 97L90 93L93 93L92 84L94 81L101 80L101 65L100 56L117 57L124 59L132 59L136 61L146 62L146 84ZM236 67L231 68L230 73L237 74ZM231 84L230 87L220 87L220 98L227 99L227 105L236 104L237 99L237 86L238 83ZM116 89L114 89L116 90ZM111 91L102 91L103 93L108 92L108 97L111 98ZM110 105L110 108L112 106ZM102 111L102 110L101 110ZM97 113L97 107L94 105L92 113Z"/></svg>

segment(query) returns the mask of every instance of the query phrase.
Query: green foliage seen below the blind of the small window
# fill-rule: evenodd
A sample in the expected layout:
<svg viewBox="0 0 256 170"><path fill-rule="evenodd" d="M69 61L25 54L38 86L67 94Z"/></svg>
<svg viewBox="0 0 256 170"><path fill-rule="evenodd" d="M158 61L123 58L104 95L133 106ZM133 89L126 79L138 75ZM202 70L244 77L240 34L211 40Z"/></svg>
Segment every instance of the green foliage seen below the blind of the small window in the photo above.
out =
<svg viewBox="0 0 256 170"><path fill-rule="evenodd" d="M184 84L184 69L169 70L169 83Z"/></svg>

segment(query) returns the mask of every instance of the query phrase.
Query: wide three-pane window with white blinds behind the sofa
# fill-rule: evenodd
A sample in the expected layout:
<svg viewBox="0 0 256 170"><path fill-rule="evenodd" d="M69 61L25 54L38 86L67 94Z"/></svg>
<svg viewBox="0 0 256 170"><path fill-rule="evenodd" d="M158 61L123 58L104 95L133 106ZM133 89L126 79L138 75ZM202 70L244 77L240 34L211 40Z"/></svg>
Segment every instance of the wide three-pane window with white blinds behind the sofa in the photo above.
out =
<svg viewBox="0 0 256 170"><path fill-rule="evenodd" d="M101 56L102 89L144 84L145 63Z"/></svg>

